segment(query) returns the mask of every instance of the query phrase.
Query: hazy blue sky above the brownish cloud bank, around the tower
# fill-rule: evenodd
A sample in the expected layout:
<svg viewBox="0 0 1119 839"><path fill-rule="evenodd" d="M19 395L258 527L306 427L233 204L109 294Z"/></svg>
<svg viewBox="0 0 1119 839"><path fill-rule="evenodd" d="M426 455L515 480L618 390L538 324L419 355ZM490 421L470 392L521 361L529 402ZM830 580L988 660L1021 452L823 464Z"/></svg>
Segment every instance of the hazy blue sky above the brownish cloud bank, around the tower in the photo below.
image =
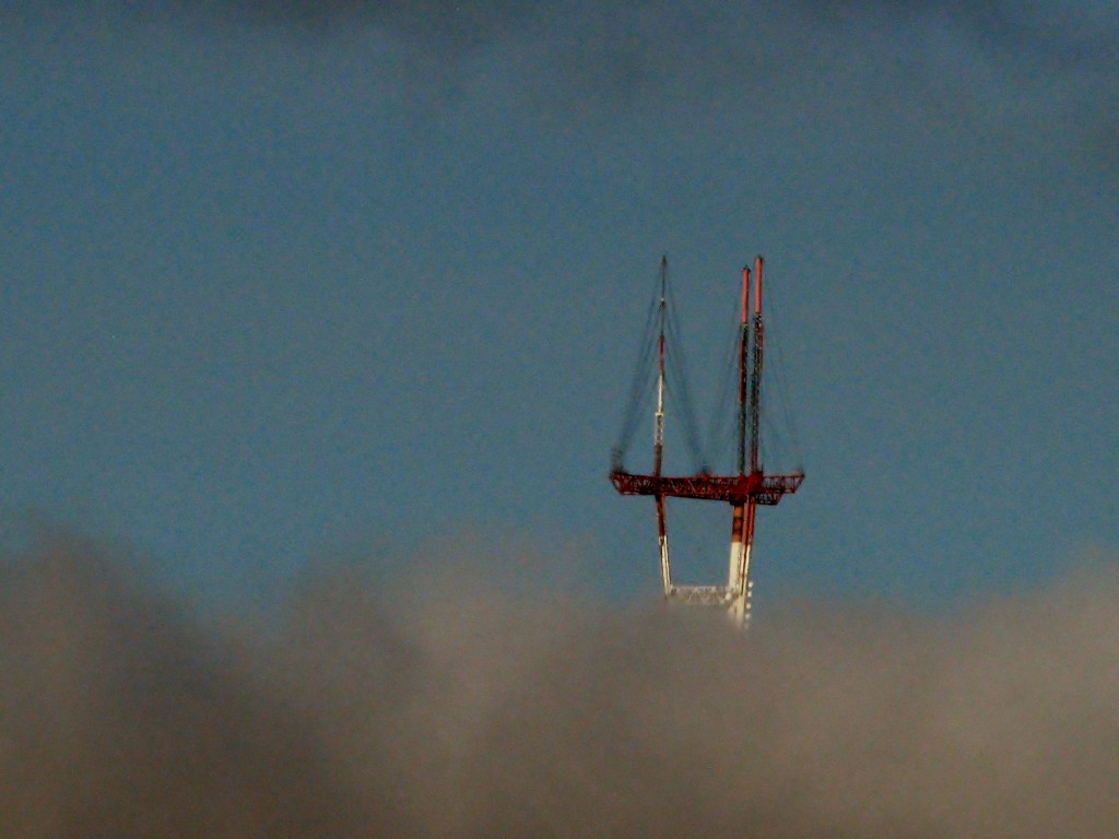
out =
<svg viewBox="0 0 1119 839"><path fill-rule="evenodd" d="M760 598L1113 556L1117 36L1102 3L2 2L6 540L225 600L500 537L655 597L605 473L657 264L703 403L763 253L808 478Z"/></svg>

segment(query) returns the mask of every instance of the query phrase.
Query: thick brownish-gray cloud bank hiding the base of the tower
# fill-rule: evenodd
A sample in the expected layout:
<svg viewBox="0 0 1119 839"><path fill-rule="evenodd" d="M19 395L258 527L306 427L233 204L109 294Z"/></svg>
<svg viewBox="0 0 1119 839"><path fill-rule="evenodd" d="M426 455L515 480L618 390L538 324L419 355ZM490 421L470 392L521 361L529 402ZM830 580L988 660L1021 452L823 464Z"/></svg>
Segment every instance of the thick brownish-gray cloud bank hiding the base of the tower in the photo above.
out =
<svg viewBox="0 0 1119 839"><path fill-rule="evenodd" d="M360 575L223 628L81 545L6 567L4 835L1017 839L1119 816L1106 571L953 621L770 607L743 637Z"/></svg>

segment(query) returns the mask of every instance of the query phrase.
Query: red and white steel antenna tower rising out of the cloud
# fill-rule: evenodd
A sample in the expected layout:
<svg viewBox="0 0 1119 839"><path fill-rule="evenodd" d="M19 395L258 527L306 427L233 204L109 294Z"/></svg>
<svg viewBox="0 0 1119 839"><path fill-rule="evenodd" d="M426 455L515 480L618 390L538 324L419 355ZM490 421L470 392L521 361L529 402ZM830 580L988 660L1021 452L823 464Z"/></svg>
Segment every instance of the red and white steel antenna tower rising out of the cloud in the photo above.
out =
<svg viewBox="0 0 1119 839"><path fill-rule="evenodd" d="M661 473L665 445L665 334L667 326L667 260L661 261L659 334L657 340L657 409L653 414L652 473L631 474L615 450L610 480L623 496L652 496L657 507L657 541L665 597L669 601L722 606L732 620L744 625L750 620L750 562L754 544L754 515L759 505L777 505L796 492L805 474L767 474L760 460L761 379L764 351L762 321L762 257L754 263L753 307L750 305L751 272L742 270L742 318L739 330L737 474L713 475L700 471L689 477ZM731 557L726 585L678 585L673 582L668 554L666 498L725 501L731 505Z"/></svg>

